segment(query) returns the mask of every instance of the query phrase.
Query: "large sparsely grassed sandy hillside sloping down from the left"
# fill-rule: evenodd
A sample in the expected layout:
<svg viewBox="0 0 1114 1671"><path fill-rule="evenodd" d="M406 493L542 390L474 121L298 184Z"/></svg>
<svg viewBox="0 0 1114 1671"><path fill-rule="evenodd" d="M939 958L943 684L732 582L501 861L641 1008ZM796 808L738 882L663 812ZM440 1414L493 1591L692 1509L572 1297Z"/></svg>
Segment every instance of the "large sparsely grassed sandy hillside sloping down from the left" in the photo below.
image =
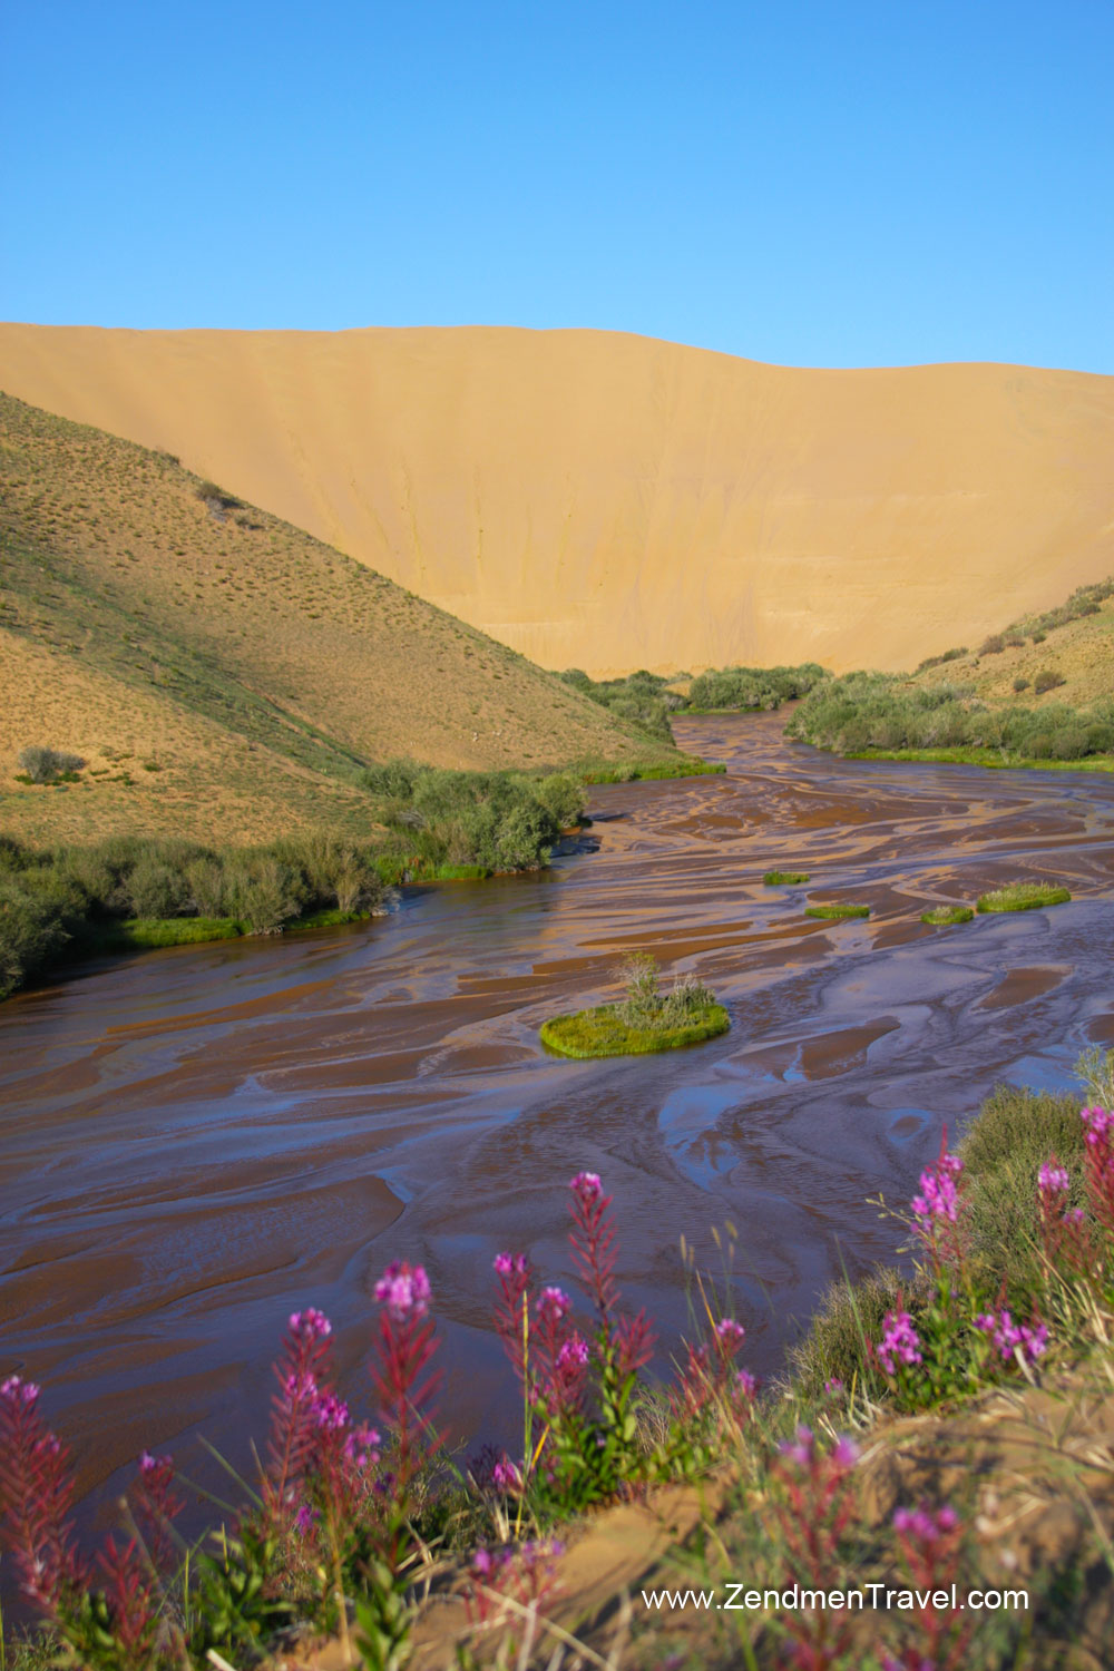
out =
<svg viewBox="0 0 1114 1671"><path fill-rule="evenodd" d="M0 824L366 829L371 762L670 765L670 744L165 453L0 396ZM18 754L80 782L18 782Z"/></svg>

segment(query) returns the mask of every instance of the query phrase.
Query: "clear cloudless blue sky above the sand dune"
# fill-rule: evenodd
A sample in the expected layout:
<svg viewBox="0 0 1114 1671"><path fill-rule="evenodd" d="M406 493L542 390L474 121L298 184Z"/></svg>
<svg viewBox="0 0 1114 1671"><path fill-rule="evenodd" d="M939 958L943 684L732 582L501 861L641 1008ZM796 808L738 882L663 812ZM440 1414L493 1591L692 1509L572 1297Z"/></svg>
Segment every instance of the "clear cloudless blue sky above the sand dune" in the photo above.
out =
<svg viewBox="0 0 1114 1671"><path fill-rule="evenodd" d="M1114 373L1111 0L10 5L0 317Z"/></svg>

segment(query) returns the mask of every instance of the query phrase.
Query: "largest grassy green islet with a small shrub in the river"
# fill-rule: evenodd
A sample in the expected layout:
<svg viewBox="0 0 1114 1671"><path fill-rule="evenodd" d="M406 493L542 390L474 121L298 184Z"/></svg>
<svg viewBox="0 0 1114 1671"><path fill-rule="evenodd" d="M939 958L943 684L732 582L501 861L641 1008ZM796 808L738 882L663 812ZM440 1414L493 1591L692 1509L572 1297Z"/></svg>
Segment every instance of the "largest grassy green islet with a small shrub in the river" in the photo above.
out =
<svg viewBox="0 0 1114 1671"><path fill-rule="evenodd" d="M646 1056L728 1031L727 1009L696 976L678 976L663 993L658 964L645 956L631 957L625 974L626 996L620 1003L554 1016L543 1023L541 1043L561 1056Z"/></svg>

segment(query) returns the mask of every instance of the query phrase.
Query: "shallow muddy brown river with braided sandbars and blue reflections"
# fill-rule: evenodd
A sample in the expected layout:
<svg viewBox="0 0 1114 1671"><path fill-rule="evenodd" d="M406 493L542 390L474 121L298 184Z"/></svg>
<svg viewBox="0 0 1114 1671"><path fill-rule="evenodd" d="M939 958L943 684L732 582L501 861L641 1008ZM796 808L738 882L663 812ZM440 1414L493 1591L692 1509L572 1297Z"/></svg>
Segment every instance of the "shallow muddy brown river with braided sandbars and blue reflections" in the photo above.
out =
<svg viewBox="0 0 1114 1671"><path fill-rule="evenodd" d="M573 1171L616 1196L626 1298L661 1360L686 1323L681 1233L738 1230L745 1362L770 1374L822 1288L892 1255L904 1200L1000 1079L1071 1088L1114 1041L1114 779L842 762L777 715L676 725L725 777L596 789L593 854L408 891L367 927L90 966L0 1008L0 1374L40 1380L104 1506L144 1447L241 1465L286 1315L322 1307L364 1404L371 1288L429 1268L443 1410L511 1437L491 1260L570 1278ZM767 869L807 887L768 889ZM919 922L1054 877L1052 911ZM872 906L807 919L808 901ZM576 1063L538 1026L648 951L732 1031Z"/></svg>

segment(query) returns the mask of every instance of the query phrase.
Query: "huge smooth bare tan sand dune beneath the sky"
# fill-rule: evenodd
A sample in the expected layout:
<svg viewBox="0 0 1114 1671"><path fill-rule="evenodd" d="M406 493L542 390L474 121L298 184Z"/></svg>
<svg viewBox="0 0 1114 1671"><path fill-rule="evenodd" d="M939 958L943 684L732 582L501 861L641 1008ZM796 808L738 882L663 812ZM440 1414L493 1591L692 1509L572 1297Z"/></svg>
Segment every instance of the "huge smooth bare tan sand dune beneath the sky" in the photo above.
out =
<svg viewBox="0 0 1114 1671"><path fill-rule="evenodd" d="M546 667L905 667L1114 570L1114 378L596 331L10 324L0 386Z"/></svg>

